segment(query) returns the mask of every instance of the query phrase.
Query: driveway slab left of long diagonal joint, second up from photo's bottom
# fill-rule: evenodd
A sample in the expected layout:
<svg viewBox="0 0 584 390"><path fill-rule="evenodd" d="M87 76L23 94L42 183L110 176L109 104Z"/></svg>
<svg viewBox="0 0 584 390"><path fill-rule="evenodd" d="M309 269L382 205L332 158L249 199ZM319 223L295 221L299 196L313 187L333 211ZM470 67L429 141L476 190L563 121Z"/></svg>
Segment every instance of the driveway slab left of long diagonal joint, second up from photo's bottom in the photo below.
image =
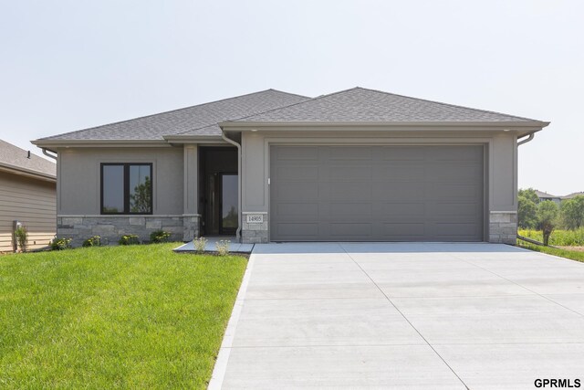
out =
<svg viewBox="0 0 584 390"><path fill-rule="evenodd" d="M249 346L425 344L387 300L246 300L233 343Z"/></svg>

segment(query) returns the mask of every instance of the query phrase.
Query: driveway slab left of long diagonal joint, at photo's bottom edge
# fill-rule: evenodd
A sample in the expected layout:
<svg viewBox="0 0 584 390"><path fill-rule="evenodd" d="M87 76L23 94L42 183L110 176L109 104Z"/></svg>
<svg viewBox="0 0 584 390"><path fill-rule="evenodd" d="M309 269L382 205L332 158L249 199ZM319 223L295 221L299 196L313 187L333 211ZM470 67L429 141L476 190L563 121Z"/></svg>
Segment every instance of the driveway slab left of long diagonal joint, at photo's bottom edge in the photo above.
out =
<svg viewBox="0 0 584 390"><path fill-rule="evenodd" d="M223 385L224 389L464 389L427 345L234 348Z"/></svg>

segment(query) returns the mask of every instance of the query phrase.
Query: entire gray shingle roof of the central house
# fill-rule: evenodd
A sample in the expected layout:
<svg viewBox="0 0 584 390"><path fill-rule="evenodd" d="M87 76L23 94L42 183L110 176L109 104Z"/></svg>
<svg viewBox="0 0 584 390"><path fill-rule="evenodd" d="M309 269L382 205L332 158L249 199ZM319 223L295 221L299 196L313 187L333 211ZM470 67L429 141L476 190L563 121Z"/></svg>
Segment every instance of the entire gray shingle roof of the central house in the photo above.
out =
<svg viewBox="0 0 584 390"><path fill-rule="evenodd" d="M318 98L264 90L129 121L119 121L38 141L156 141L172 135L221 135L221 122L533 122L494 111L470 109L379 90L353 88ZM543 123L543 122L542 122Z"/></svg>

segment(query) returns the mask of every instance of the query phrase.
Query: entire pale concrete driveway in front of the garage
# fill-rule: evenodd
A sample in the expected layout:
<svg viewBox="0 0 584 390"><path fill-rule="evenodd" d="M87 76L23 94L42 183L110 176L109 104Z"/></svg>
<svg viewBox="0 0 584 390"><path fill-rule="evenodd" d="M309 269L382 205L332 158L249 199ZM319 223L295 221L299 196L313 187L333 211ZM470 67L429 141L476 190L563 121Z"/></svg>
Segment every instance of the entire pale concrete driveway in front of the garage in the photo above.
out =
<svg viewBox="0 0 584 390"><path fill-rule="evenodd" d="M210 388L584 385L584 264L494 244L256 245Z"/></svg>

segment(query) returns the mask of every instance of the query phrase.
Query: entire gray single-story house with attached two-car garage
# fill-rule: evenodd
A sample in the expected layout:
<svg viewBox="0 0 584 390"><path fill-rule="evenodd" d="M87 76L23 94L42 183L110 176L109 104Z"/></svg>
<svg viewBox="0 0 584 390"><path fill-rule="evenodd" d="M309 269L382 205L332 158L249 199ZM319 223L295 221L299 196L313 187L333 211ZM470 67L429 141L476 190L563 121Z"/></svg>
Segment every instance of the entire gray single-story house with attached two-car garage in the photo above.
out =
<svg viewBox="0 0 584 390"><path fill-rule="evenodd" d="M547 124L362 88L265 90L33 143L58 154L57 233L76 245L159 228L514 243L518 139Z"/></svg>

